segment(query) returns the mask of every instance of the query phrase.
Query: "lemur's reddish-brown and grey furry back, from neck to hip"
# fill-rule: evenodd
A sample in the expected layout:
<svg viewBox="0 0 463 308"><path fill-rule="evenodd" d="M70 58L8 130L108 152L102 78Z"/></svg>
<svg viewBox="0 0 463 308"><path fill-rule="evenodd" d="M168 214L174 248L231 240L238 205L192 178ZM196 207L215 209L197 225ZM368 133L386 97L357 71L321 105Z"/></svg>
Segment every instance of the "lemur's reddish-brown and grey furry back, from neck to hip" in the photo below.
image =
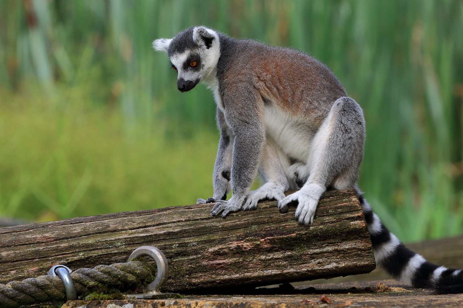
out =
<svg viewBox="0 0 463 308"><path fill-rule="evenodd" d="M321 124L332 104L347 95L328 67L300 51L227 36L220 41L219 84L230 89L240 82L250 84L265 104L289 110L294 117Z"/></svg>

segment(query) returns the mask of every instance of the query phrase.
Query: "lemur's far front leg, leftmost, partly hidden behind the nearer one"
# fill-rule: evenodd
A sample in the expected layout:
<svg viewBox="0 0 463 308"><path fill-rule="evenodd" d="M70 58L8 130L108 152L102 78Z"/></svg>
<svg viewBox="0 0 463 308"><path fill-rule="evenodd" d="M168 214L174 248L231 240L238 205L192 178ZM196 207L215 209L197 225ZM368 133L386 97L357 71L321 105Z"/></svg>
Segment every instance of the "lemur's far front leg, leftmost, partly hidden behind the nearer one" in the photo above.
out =
<svg viewBox="0 0 463 308"><path fill-rule="evenodd" d="M232 189L230 179L232 171L233 133L225 122L224 113L219 108L217 108L217 124L220 129L220 141L213 173L214 195L207 200L199 198L197 204L225 200L227 199L227 194Z"/></svg>

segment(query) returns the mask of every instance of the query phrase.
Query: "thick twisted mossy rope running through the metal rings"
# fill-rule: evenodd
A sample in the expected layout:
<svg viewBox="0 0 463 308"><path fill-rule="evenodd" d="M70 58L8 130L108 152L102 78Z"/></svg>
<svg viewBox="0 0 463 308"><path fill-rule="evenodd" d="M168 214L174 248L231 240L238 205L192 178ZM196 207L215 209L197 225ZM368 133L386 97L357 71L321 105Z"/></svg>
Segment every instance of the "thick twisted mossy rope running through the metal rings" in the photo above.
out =
<svg viewBox="0 0 463 308"><path fill-rule="evenodd" d="M131 261L80 268L71 273L71 278L77 295L85 296L92 290L104 290L108 286L121 291L135 290L140 284L153 281L155 272L156 266ZM66 300L63 282L57 276L39 276L0 284L0 307L18 307L51 300Z"/></svg>

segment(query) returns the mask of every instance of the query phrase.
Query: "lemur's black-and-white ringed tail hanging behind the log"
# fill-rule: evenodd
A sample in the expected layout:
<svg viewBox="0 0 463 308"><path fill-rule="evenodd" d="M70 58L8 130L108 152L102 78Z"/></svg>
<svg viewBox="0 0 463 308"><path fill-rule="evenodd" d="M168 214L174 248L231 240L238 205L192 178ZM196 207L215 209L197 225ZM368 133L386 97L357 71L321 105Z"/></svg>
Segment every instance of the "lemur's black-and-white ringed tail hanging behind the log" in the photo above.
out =
<svg viewBox="0 0 463 308"><path fill-rule="evenodd" d="M463 271L428 262L406 248L373 213L363 193L357 189L371 237L376 264L389 275L415 288L433 288L440 294L463 293Z"/></svg>

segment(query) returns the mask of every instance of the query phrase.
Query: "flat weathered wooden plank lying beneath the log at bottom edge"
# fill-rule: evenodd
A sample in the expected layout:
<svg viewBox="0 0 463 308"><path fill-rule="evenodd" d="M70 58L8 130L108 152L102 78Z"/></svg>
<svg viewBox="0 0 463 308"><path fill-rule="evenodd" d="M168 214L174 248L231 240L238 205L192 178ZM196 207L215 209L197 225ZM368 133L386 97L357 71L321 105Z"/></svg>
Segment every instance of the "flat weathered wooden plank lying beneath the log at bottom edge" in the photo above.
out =
<svg viewBox="0 0 463 308"><path fill-rule="evenodd" d="M436 295L432 289L415 289L400 285L404 291L364 292L365 287L373 288L378 281L356 284L318 284L298 287L299 290L266 289L255 290L246 295L183 296L175 299L158 300L109 300L109 301L69 301L63 308L441 308L463 307L463 294ZM398 285L391 280L388 286ZM311 289L307 289L312 287ZM351 287L357 290L350 289ZM262 290L262 289L259 289ZM332 304L320 301L322 295L329 296Z"/></svg>

